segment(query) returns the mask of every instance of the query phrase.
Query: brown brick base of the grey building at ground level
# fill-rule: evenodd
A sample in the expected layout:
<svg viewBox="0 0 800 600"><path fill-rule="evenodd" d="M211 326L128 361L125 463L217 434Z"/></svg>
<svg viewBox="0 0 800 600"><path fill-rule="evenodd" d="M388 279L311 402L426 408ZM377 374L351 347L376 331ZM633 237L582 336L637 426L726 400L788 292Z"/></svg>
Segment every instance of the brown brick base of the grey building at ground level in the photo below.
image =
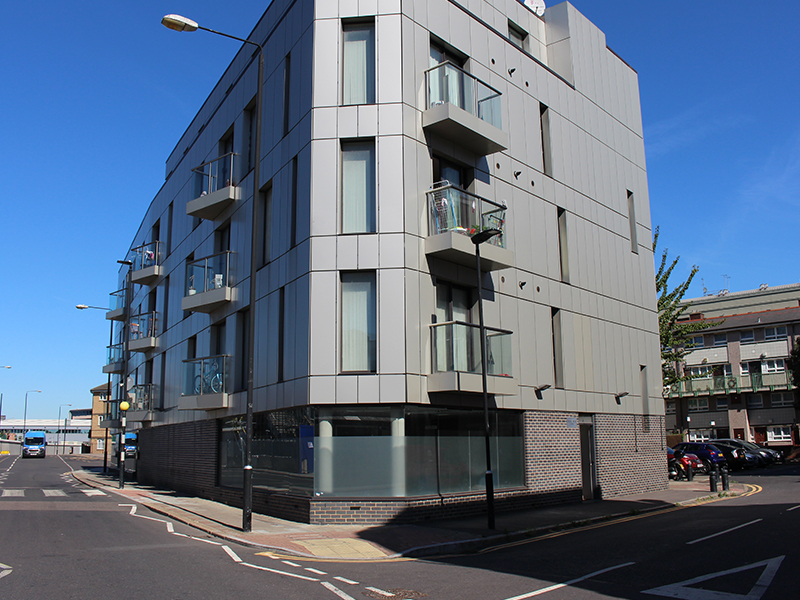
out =
<svg viewBox="0 0 800 600"><path fill-rule="evenodd" d="M495 491L498 512L583 499L577 413L527 411L525 487ZM595 497L666 489L664 421L659 416L594 415ZM242 506L240 489L218 485L216 421L139 431L139 483ZM486 512L483 492L414 498L325 498L254 490L253 510L305 523L411 523Z"/></svg>

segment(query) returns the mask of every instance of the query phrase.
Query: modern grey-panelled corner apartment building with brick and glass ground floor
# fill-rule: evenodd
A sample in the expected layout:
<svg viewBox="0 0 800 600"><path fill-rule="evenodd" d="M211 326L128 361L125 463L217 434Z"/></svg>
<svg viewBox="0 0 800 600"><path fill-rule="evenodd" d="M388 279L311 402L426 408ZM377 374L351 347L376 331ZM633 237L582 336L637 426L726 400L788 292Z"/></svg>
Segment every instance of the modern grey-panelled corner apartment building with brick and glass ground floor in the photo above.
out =
<svg viewBox="0 0 800 600"><path fill-rule="evenodd" d="M499 230L480 247L499 508L665 487L637 74L603 33L568 3L273 0L249 39L263 105L243 46L108 314L140 481L241 502L252 324L256 511L482 510L471 236Z"/></svg>

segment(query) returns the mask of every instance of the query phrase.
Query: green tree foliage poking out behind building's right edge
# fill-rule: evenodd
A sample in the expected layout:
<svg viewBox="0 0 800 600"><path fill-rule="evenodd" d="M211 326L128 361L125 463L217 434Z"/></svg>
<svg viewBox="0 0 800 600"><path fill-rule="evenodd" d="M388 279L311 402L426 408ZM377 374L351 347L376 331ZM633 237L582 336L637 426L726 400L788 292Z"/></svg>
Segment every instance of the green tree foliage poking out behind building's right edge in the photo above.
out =
<svg viewBox="0 0 800 600"><path fill-rule="evenodd" d="M658 234L658 227L656 227L653 234L653 254L658 245ZM681 257L678 256L668 263L668 251L668 248L664 248L664 252L661 253L661 264L656 272L658 333L661 336L661 374L665 386L691 379L689 375L679 375L675 369L675 363L682 362L686 354L694 347L692 339L698 331L719 324L719 322L708 323L707 321L679 322L679 319L691 307L691 304L681 304L681 300L700 269L697 265L693 265L686 281L670 289L670 275Z"/></svg>

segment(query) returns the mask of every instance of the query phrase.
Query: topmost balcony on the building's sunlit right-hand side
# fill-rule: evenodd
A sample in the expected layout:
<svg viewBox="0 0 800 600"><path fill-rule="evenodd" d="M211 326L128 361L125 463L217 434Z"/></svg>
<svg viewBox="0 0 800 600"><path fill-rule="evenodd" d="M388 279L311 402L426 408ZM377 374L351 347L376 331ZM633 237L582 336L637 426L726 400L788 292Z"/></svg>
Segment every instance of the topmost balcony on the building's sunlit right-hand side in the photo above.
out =
<svg viewBox="0 0 800 600"><path fill-rule="evenodd" d="M425 71L425 89L426 131L479 156L508 148L499 91L449 62Z"/></svg>

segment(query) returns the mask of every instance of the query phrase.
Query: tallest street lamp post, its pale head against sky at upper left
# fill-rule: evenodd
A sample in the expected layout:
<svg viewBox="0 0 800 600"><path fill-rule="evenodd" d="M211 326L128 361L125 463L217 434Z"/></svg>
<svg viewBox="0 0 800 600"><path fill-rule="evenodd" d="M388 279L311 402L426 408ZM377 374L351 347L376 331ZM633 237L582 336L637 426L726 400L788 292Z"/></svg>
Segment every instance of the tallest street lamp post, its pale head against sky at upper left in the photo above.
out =
<svg viewBox="0 0 800 600"><path fill-rule="evenodd" d="M195 21L180 15L166 15L161 19L161 24L173 31L196 31L202 29L209 33L221 35L243 44L250 44L258 48L258 89L256 90L256 147L255 164L253 165L253 215L252 229L250 236L250 315L248 323L247 340L247 416L245 418L245 442L244 442L244 469L242 482L242 531L248 532L252 528L253 518L253 391L254 391L254 354L256 337L256 275L258 262L258 233L256 224L259 223L258 193L261 189L261 113L262 113L262 93L264 89L264 47L258 42L246 40L227 33L201 27Z"/></svg>

